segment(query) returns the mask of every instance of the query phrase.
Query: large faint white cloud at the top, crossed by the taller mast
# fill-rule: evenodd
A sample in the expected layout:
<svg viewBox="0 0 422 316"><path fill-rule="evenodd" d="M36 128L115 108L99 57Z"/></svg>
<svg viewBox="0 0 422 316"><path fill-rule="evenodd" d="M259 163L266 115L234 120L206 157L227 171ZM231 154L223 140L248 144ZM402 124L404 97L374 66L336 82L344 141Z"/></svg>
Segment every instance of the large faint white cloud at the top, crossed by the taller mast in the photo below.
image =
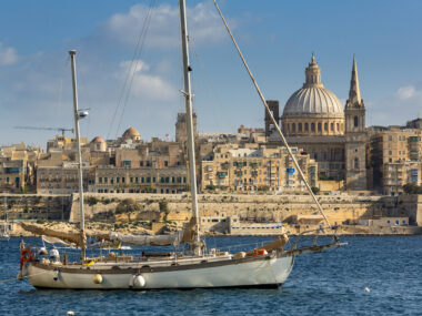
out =
<svg viewBox="0 0 422 316"><path fill-rule="evenodd" d="M188 7L187 11L190 37L195 43L214 43L225 35L221 20L210 4L198 3ZM133 45L148 12L145 4L135 4L128 13L114 14L105 23L107 37ZM151 9L145 44L153 48L178 47L179 23L177 6L161 4Z"/></svg>

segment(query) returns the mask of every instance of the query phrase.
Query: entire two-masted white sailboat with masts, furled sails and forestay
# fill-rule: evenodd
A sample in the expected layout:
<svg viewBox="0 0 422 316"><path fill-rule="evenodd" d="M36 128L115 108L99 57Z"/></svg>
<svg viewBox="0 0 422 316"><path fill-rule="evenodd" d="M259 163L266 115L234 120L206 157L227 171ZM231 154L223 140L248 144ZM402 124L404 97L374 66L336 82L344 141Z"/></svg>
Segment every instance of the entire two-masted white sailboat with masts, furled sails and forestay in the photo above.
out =
<svg viewBox="0 0 422 316"><path fill-rule="evenodd" d="M79 194L81 222L79 233L51 232L43 228L28 230L38 234L48 234L67 242L71 242L81 248L81 261L69 263L67 258L47 259L37 257L32 251L26 246L21 247L21 273L20 276L28 277L29 282L37 288L73 288L73 289L162 289L162 288L217 288L217 287L279 287L290 275L297 255L304 253L322 252L328 248L341 246L335 237L330 243L318 245L316 239L308 247L298 246L298 242L289 248L287 244L289 236L284 233L271 243L257 247L249 252L220 252L208 249L205 241L201 237L199 227L198 196L197 196L197 174L194 156L194 139L192 124L192 93L190 86L190 63L188 31L185 18L184 0L179 1L180 26L182 40L182 63L185 99L185 113L188 122L188 152L189 152L189 174L192 200L192 218L180 232L173 235L159 236L135 236L110 233L98 235L101 241L121 242L131 245L152 246L174 246L175 252L167 256L141 255L138 258L132 256L112 256L88 258L86 256L87 237L84 231L83 216L83 190L82 190L82 162L79 142L79 120L83 116L78 110L78 93L76 80L76 51L70 51L73 85L73 110L76 136L78 145L79 163ZM215 3L220 14L221 11ZM222 14L221 14L222 17ZM224 18L222 20L225 23ZM228 28L228 26L227 26ZM229 28L228 28L229 30ZM230 30L230 35L232 37ZM233 39L233 38L232 38ZM235 43L234 39L233 42ZM240 50L235 44L239 53ZM241 54L241 53L240 53ZM243 57L241 55L247 65ZM253 77L247 65L248 72ZM265 100L258 85L255 88L269 111ZM274 126L284 141L285 147L291 155L302 180L307 183L310 194L313 196L319 210L322 208L313 195L300 166L292 154L289 145L282 135L278 123L270 113ZM323 214L323 213L322 213ZM326 220L325 215L323 215ZM328 221L326 221L328 223ZM330 224L328 223L331 228ZM297 239L298 241L298 239Z"/></svg>

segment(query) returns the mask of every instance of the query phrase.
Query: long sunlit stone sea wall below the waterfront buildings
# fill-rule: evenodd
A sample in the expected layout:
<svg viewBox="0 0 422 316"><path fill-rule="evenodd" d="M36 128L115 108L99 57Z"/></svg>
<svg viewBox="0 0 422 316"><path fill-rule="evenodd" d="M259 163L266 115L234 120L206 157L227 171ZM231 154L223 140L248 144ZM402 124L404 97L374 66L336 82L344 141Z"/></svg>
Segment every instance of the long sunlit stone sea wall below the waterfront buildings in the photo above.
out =
<svg viewBox="0 0 422 316"><path fill-rule="evenodd" d="M86 218L88 221L130 221L175 222L184 223L191 217L191 200L188 194L86 194ZM117 205L125 200L137 202L139 210L114 214ZM319 195L318 196L330 223L354 224L359 220L381 216L409 216L413 223L420 223L421 201L412 197L400 202L391 196L351 196ZM414 200L416 198L416 200ZM160 202L165 201L165 210ZM415 201L419 203L415 204ZM416 205L416 206L415 206ZM400 206L400 207L399 207ZM281 222L292 215L316 214L318 208L309 195L199 195L199 212L201 216L230 216L237 214L241 221L248 222ZM70 222L79 222L79 197L72 197ZM412 215L413 214L413 215ZM418 215L419 214L419 215ZM129 215L129 216L128 216Z"/></svg>

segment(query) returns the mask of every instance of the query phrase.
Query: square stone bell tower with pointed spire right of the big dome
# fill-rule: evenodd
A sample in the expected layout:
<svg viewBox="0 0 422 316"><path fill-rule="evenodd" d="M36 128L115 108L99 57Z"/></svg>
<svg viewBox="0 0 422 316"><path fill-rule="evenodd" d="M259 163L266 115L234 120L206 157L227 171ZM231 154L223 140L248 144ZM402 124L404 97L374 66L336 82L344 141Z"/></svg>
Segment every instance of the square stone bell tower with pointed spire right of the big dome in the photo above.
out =
<svg viewBox="0 0 422 316"><path fill-rule="evenodd" d="M359 89L356 59L353 57L349 99L345 101L345 185L348 190L366 190L365 105Z"/></svg>

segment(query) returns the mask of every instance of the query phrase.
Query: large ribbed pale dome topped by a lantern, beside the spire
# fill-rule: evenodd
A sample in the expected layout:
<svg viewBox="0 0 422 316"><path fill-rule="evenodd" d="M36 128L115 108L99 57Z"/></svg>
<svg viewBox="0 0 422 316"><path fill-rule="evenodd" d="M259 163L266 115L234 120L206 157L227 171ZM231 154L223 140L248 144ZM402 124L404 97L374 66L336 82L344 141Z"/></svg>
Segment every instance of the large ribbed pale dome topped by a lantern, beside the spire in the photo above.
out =
<svg viewBox="0 0 422 316"><path fill-rule="evenodd" d="M283 118L344 118L340 100L321 82L321 70L312 55L307 71L307 82L288 100Z"/></svg>

